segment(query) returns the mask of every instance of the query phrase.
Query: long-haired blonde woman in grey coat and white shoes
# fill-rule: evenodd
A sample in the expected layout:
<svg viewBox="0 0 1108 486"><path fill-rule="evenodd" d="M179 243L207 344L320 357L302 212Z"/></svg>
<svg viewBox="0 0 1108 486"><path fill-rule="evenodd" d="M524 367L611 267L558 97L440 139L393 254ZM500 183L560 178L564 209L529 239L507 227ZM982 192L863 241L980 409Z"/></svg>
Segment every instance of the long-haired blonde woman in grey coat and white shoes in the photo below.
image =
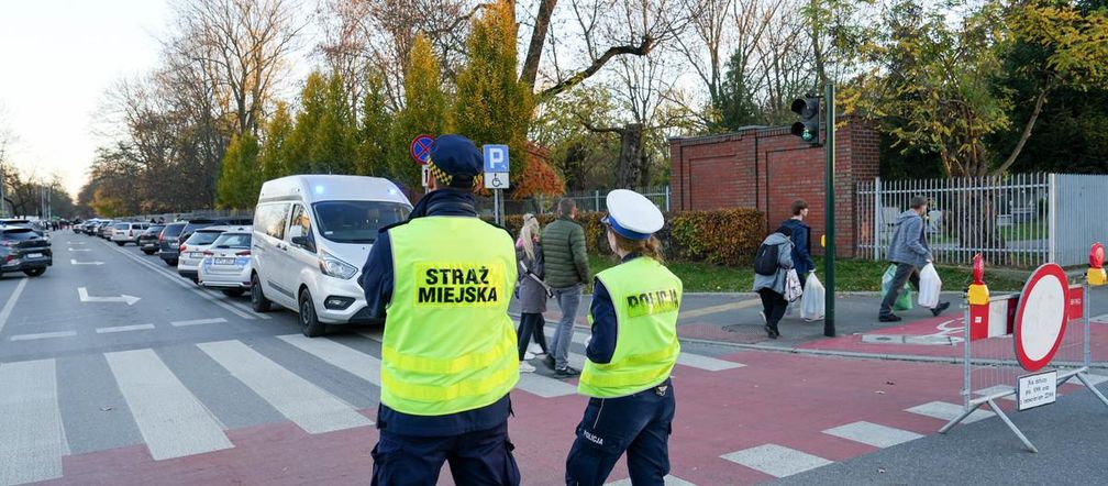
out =
<svg viewBox="0 0 1108 486"><path fill-rule="evenodd" d="M535 342L543 348L543 353L550 353L546 347L546 333L544 332L546 321L543 313L546 312L546 300L550 298L551 293L546 284L543 283L545 269L543 246L538 243L538 220L530 214L527 216L524 216L523 227L520 229L520 239L515 244L515 257L520 265L520 276L515 288L520 300L517 341L520 343L521 373L535 371L535 367L525 361L527 343L531 342L532 334L535 336Z"/></svg>

